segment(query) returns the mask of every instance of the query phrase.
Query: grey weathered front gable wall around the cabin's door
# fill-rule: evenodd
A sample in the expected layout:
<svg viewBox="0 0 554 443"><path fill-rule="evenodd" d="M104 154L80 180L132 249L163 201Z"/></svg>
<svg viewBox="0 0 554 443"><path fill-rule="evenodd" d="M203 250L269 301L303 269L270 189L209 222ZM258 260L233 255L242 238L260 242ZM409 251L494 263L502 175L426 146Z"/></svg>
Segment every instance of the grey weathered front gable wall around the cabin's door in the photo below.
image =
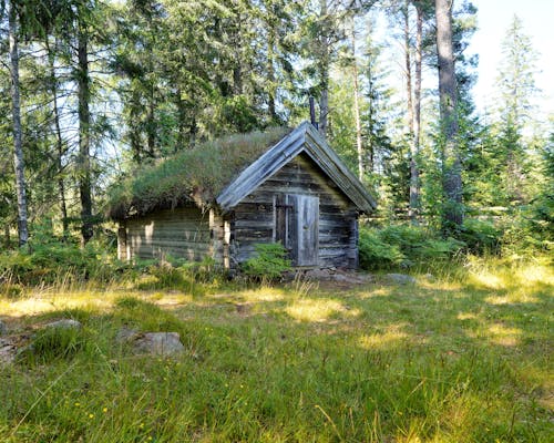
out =
<svg viewBox="0 0 554 443"><path fill-rule="evenodd" d="M248 259L257 243L276 240L276 196L319 196L319 267L358 266L358 213L307 155L300 154L244 198L228 216L232 267Z"/></svg>

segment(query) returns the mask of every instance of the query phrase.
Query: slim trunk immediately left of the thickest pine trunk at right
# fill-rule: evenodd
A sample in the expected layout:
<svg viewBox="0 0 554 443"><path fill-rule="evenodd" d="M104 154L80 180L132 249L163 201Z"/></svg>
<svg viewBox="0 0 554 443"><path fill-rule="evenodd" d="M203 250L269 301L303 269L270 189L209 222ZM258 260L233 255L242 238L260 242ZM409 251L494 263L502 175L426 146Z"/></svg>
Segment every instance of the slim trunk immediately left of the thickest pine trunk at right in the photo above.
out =
<svg viewBox="0 0 554 443"><path fill-rule="evenodd" d="M410 219L413 225L418 223L418 215L420 210L418 157L421 138L421 59L423 52L423 9L419 2L416 2L416 81L413 86L413 134L410 146Z"/></svg>

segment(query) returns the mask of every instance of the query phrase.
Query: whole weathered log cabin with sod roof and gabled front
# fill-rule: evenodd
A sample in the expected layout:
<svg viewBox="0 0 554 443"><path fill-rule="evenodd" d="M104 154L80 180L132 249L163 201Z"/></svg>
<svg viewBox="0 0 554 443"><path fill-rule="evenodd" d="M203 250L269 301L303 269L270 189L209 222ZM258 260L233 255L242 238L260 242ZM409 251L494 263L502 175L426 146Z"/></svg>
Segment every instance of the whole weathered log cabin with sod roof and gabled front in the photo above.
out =
<svg viewBox="0 0 554 443"><path fill-rule="evenodd" d="M236 270L256 244L280 243L296 268L355 269L358 217L376 208L309 122L212 142L141 174L111 206L122 260L211 257Z"/></svg>

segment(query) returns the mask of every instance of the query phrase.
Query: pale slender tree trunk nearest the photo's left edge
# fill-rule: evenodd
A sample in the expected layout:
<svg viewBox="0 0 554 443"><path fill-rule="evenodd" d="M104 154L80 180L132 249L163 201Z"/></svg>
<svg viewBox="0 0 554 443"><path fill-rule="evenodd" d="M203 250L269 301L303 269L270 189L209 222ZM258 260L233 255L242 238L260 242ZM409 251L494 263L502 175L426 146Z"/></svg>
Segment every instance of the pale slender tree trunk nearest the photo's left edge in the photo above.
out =
<svg viewBox="0 0 554 443"><path fill-rule="evenodd" d="M16 169L16 193L18 196L18 234L19 246L29 241L27 227L27 195L23 161L23 137L21 130L21 104L19 95L19 51L18 18L13 0L9 2L9 41L11 71L11 104L13 119L13 164Z"/></svg>

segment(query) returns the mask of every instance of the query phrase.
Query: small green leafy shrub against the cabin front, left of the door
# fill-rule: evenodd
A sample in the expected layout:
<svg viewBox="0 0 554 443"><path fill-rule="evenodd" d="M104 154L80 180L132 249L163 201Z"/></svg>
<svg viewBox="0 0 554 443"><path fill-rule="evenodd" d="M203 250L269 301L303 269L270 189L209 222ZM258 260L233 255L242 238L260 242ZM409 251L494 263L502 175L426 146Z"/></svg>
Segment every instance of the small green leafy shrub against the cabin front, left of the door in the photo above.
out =
<svg viewBox="0 0 554 443"><path fill-rule="evenodd" d="M243 264L243 272L256 280L273 281L291 269L287 249L279 243L256 244L256 254Z"/></svg>

